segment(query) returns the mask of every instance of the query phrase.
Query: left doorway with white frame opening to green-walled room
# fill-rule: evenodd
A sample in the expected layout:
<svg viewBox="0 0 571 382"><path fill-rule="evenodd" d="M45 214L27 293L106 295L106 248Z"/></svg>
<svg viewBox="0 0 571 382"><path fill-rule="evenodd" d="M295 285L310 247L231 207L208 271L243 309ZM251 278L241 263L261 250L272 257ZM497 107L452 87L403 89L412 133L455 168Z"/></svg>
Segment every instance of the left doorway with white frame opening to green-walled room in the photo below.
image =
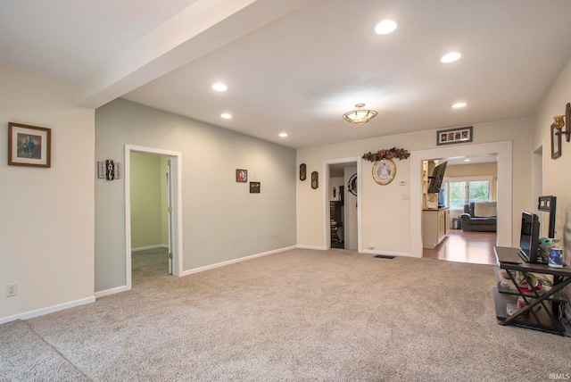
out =
<svg viewBox="0 0 571 382"><path fill-rule="evenodd" d="M153 170L147 171L146 167ZM167 256L165 262L151 259L147 263L164 266L167 275L179 276L182 271L180 153L125 145L124 173L125 276L128 289L132 287L133 250L141 251L148 259L153 255L155 258L161 254ZM141 173L145 175L141 177ZM151 188L154 195L149 195L153 194ZM155 202L145 205L149 200ZM137 205L144 207L137 209Z"/></svg>

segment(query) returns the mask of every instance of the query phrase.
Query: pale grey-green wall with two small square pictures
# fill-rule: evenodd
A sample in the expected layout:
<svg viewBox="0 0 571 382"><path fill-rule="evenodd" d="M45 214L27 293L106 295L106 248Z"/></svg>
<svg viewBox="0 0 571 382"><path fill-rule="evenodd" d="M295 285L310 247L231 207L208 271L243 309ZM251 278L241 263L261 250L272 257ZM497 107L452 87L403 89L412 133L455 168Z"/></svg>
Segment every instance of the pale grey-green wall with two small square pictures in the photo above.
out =
<svg viewBox="0 0 571 382"><path fill-rule="evenodd" d="M118 99L95 112L97 158L120 160L125 145L182 154L182 270L295 245L295 151ZM261 194L236 183L236 169ZM308 172L310 173L310 171ZM124 184L95 184L95 290L125 286Z"/></svg>

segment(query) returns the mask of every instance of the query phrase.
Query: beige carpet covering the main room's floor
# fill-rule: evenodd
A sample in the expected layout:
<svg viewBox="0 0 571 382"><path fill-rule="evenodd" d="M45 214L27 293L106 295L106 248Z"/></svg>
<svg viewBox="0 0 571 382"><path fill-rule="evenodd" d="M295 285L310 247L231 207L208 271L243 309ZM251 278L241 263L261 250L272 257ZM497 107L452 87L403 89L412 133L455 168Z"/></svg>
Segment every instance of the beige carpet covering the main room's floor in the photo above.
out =
<svg viewBox="0 0 571 382"><path fill-rule="evenodd" d="M1 325L0 380L528 381L571 373L570 338L497 324L490 265L296 249L184 278L137 267L134 260L131 291Z"/></svg>

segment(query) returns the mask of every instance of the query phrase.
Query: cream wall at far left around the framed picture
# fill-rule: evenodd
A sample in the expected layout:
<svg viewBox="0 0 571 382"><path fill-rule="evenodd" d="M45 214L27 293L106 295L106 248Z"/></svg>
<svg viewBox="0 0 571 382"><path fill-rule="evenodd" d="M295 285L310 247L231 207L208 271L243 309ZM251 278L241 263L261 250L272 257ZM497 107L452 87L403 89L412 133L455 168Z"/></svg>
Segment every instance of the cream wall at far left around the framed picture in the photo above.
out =
<svg viewBox="0 0 571 382"><path fill-rule="evenodd" d="M75 86L0 64L0 323L94 298L95 111ZM8 166L8 122L52 129L52 167Z"/></svg>

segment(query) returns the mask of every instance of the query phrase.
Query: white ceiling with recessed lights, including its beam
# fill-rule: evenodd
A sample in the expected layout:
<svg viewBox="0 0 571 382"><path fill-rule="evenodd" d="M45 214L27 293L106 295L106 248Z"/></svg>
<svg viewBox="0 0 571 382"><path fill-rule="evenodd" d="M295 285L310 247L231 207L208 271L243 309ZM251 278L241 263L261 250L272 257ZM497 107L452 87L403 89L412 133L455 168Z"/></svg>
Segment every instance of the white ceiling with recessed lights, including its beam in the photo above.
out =
<svg viewBox="0 0 571 382"><path fill-rule="evenodd" d="M571 58L570 14L569 0L2 0L0 61L77 83L87 107L122 96L306 147L531 116ZM385 18L399 28L377 35ZM377 118L344 121L360 102Z"/></svg>

